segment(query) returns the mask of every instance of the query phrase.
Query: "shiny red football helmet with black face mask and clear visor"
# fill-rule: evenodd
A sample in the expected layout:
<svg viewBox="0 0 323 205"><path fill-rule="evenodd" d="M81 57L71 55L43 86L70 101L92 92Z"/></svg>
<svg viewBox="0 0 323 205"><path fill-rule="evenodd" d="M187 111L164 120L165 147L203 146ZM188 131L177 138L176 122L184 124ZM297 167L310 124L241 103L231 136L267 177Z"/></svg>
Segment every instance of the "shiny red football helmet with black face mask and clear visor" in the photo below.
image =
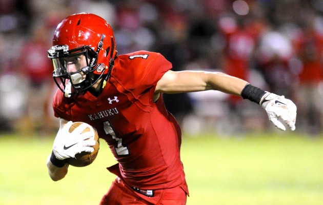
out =
<svg viewBox="0 0 323 205"><path fill-rule="evenodd" d="M53 78L65 96L86 91L103 78L102 90L116 54L111 26L91 13L73 14L62 20L54 32L53 46L48 50L54 65ZM86 64L79 62L80 56L86 59ZM69 64L74 64L76 71L71 72Z"/></svg>

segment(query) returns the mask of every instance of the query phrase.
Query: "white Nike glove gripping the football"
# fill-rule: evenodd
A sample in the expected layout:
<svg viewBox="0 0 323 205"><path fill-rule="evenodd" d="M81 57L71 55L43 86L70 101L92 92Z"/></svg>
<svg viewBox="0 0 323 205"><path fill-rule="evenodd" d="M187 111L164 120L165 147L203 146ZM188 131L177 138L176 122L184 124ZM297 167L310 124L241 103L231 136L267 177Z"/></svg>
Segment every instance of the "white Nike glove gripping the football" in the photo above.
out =
<svg viewBox="0 0 323 205"><path fill-rule="evenodd" d="M75 157L75 154L81 152L94 151L93 146L95 145L95 140L93 128L90 126L90 132L81 134L87 128L86 124L81 124L70 133L69 129L72 124L73 122L69 121L62 129L59 129L54 140L53 153L59 160Z"/></svg>

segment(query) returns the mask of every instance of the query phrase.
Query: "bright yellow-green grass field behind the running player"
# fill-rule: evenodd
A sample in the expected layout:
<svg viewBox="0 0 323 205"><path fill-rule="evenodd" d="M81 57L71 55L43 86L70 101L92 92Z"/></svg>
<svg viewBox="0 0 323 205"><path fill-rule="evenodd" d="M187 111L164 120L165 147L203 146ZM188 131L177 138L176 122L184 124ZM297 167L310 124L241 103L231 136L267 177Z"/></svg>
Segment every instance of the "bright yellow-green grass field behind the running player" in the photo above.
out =
<svg viewBox="0 0 323 205"><path fill-rule="evenodd" d="M283 133L283 132L280 132ZM85 168L53 182L46 158L53 137L0 134L0 204L98 204L114 175L106 144ZM323 138L291 132L244 138L184 137L187 204L323 204Z"/></svg>

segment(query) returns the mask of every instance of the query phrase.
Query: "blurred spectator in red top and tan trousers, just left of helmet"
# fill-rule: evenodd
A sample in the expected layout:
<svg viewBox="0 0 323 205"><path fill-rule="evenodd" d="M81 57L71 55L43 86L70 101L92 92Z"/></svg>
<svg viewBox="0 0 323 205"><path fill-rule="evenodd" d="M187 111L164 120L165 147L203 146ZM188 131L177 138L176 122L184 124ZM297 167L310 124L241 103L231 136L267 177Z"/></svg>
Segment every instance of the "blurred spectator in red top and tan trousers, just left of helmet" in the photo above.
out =
<svg viewBox="0 0 323 205"><path fill-rule="evenodd" d="M51 46L49 31L43 22L35 24L16 62L16 71L28 80L27 108L17 126L29 134L47 131L51 116L48 98L54 82L52 63L46 55Z"/></svg>

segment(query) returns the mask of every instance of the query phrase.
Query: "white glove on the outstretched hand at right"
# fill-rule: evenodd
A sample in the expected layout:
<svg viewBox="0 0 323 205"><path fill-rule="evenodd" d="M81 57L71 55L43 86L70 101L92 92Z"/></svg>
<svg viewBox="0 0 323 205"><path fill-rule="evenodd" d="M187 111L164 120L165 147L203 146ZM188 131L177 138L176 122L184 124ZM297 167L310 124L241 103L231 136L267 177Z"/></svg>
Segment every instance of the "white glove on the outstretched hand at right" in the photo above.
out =
<svg viewBox="0 0 323 205"><path fill-rule="evenodd" d="M285 126L279 121L286 123L290 130L295 130L296 111L295 104L284 96L266 92L261 98L260 105L266 110L269 120L280 130L286 130Z"/></svg>

